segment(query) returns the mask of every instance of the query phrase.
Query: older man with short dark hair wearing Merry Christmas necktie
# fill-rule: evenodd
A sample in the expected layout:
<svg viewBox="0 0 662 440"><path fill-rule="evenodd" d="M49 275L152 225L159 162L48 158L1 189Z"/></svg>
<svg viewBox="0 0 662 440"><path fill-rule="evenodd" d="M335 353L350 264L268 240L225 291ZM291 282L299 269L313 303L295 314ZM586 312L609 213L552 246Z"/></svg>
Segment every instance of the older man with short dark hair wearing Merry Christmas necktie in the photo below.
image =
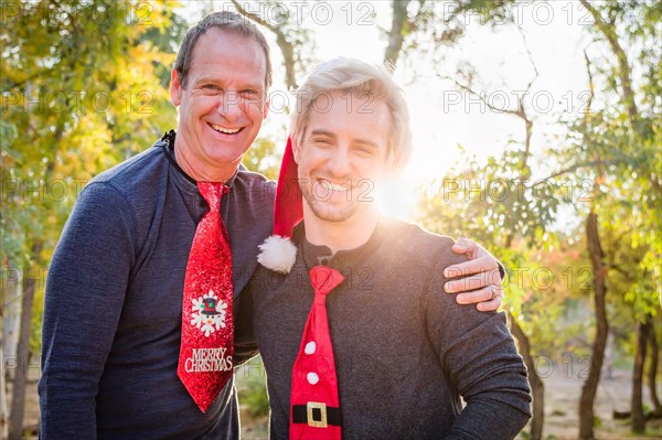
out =
<svg viewBox="0 0 662 440"><path fill-rule="evenodd" d="M204 18L172 71L177 135L82 192L46 282L43 438L238 437L233 300L274 201L274 184L239 163L270 84L257 28L234 13ZM493 258L474 265L485 286Z"/></svg>

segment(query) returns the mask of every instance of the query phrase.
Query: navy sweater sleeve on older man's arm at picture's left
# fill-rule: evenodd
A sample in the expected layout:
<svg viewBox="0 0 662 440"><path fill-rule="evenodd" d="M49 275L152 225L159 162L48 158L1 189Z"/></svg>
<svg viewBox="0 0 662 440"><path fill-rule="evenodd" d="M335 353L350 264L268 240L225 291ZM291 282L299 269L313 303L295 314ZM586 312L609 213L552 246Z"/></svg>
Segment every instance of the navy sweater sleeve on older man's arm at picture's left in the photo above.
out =
<svg viewBox="0 0 662 440"><path fill-rule="evenodd" d="M122 194L103 182L85 187L46 280L42 439L96 438L95 399L136 260L134 237L134 212Z"/></svg>

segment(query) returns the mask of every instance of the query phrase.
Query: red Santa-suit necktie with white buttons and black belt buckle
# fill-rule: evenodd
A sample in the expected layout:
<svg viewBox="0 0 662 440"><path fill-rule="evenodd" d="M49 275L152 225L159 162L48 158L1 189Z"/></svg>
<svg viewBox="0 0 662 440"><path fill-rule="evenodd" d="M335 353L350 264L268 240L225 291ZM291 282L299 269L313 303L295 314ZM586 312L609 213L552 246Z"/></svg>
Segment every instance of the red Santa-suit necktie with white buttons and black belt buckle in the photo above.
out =
<svg viewBox="0 0 662 440"><path fill-rule="evenodd" d="M290 439L341 438L338 377L324 303L343 279L325 266L310 269L314 300L292 368Z"/></svg>

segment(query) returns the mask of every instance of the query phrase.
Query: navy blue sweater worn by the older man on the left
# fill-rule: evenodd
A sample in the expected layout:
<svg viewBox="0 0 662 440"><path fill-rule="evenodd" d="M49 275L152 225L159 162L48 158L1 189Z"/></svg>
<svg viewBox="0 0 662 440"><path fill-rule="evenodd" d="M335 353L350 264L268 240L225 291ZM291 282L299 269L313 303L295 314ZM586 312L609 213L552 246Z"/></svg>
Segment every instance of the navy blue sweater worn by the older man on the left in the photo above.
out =
<svg viewBox="0 0 662 440"><path fill-rule="evenodd" d="M207 206L171 154L159 141L99 174L66 223L46 282L42 438L238 438L234 383L202 414L177 376L184 273ZM228 185L236 299L271 232L275 185L244 169Z"/></svg>

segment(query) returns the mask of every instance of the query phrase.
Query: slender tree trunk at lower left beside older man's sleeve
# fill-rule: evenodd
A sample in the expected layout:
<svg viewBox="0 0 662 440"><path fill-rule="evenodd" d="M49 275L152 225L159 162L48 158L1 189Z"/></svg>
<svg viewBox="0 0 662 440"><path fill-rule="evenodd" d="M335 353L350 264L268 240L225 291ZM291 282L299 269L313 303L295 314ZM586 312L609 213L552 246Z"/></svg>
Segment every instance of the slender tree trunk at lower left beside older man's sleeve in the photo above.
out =
<svg viewBox="0 0 662 440"><path fill-rule="evenodd" d="M31 262L40 260L42 244L32 246ZM30 330L32 324L32 302L36 279L29 277L30 265L25 264L23 271L23 299L21 300L21 324L19 332L19 348L17 353L17 369L12 386L11 412L9 418L9 440L19 440L23 432L23 414L25 410L25 384L28 363L30 361Z"/></svg>

